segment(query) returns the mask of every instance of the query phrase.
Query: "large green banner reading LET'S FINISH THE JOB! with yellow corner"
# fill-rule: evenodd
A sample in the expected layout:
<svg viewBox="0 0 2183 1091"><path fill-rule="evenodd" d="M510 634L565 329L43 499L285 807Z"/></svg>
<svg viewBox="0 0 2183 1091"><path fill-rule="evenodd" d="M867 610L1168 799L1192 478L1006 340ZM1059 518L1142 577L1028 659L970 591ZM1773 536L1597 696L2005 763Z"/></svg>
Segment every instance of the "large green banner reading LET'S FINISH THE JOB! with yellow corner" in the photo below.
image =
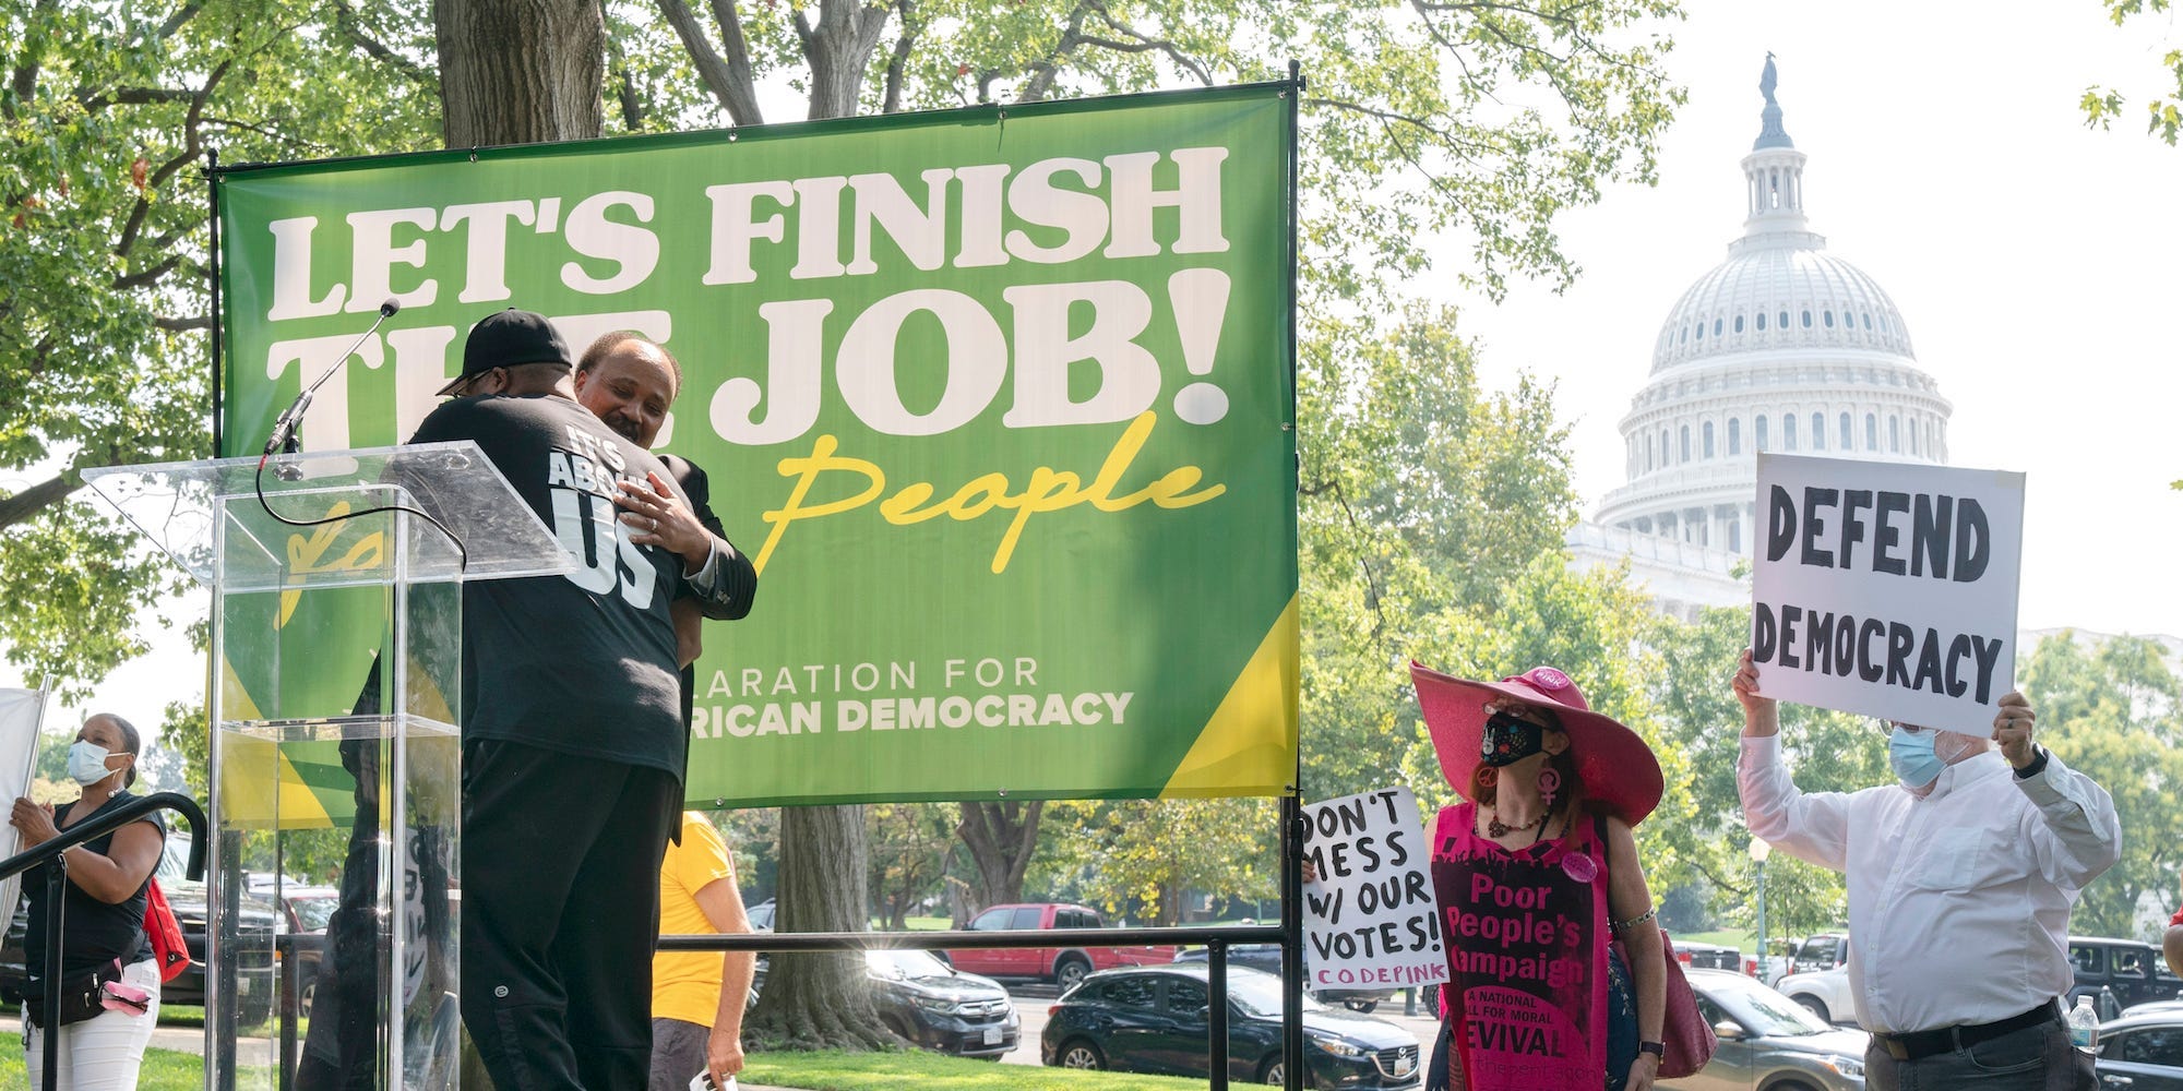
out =
<svg viewBox="0 0 2183 1091"><path fill-rule="evenodd" d="M225 172L223 454L384 297L402 312L306 449L406 439L493 310L578 351L635 329L683 367L659 449L709 473L762 572L751 618L705 628L692 803L1275 794L1292 105L1281 83ZM286 624L323 644L330 609Z"/></svg>

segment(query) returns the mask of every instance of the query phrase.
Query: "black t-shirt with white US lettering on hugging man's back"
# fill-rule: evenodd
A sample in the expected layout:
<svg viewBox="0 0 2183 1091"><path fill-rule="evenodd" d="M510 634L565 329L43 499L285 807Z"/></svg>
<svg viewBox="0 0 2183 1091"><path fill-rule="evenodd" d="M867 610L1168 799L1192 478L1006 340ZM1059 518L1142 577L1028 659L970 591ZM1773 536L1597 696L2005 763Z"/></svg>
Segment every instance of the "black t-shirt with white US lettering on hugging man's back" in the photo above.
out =
<svg viewBox="0 0 2183 1091"><path fill-rule="evenodd" d="M463 397L410 443L469 439L574 556L568 576L463 585L463 738L683 772L668 600L683 559L629 543L616 482L666 467L565 397Z"/></svg>

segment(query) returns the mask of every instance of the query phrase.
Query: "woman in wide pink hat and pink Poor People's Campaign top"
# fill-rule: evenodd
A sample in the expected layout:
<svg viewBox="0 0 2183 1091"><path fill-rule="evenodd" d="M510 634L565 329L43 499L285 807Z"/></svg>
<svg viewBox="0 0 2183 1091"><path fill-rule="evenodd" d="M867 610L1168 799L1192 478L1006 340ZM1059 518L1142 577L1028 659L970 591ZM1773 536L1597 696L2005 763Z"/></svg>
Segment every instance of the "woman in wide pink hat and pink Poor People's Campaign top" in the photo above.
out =
<svg viewBox="0 0 2183 1091"><path fill-rule="evenodd" d="M1631 827L1659 803L1659 762L1554 668L1410 676L1465 796L1432 836L1452 984L1425 1087L1648 1091L1666 971Z"/></svg>

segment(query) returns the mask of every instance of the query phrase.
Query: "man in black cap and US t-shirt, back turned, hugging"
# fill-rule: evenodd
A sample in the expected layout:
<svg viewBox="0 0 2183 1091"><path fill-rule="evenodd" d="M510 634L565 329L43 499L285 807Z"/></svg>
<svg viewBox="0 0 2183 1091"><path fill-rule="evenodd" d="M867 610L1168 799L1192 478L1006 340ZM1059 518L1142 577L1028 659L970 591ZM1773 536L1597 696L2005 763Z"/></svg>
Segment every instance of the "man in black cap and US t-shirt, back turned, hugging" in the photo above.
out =
<svg viewBox="0 0 2183 1091"><path fill-rule="evenodd" d="M565 576L463 587L463 1021L498 1091L642 1087L681 812L668 602L712 561L666 467L576 404L561 334L480 321L413 443L476 441Z"/></svg>

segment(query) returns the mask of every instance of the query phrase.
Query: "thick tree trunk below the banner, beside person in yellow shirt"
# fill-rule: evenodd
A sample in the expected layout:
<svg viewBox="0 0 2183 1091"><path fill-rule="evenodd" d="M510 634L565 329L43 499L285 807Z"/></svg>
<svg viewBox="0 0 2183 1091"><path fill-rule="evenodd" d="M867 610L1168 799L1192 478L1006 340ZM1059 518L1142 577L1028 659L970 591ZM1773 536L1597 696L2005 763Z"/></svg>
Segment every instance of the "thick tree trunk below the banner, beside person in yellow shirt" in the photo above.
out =
<svg viewBox="0 0 2183 1091"><path fill-rule="evenodd" d="M777 932L864 932L864 807L782 807ZM864 960L843 951L773 956L766 995L742 1023L764 1050L884 1050Z"/></svg>

